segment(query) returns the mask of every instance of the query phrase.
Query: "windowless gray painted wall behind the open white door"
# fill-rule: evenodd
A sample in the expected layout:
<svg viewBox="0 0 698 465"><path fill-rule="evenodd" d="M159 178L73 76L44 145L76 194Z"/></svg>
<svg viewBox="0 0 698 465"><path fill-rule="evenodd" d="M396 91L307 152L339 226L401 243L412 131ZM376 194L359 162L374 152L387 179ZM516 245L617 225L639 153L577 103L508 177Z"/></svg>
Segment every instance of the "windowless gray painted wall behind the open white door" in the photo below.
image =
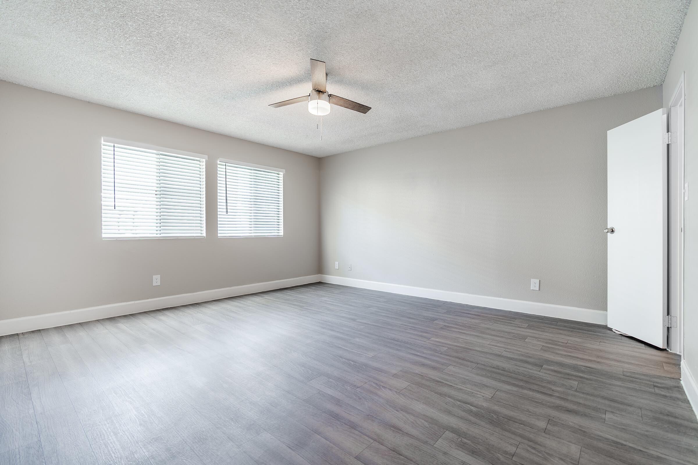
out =
<svg viewBox="0 0 698 465"><path fill-rule="evenodd" d="M657 86L322 158L322 273L606 310L606 132L661 106Z"/></svg>

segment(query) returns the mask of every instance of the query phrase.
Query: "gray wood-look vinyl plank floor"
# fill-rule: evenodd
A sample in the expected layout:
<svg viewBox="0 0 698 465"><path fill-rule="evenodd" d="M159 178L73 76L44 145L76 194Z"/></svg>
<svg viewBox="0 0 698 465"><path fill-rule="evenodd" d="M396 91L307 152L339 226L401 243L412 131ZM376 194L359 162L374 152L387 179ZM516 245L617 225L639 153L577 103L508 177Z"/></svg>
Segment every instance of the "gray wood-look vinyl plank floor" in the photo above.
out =
<svg viewBox="0 0 698 465"><path fill-rule="evenodd" d="M698 464L678 363L308 284L0 337L0 464Z"/></svg>

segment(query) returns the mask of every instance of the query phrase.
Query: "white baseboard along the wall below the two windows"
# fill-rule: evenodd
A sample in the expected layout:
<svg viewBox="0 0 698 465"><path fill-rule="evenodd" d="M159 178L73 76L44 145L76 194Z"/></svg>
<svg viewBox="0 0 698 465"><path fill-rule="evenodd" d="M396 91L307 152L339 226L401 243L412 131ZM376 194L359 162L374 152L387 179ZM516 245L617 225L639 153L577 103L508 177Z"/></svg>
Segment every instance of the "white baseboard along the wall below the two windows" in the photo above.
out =
<svg viewBox="0 0 698 465"><path fill-rule="evenodd" d="M33 317L13 318L0 320L0 336L37 329L53 328L83 321L92 321L102 318L118 317L131 313L147 312L148 310L158 310L160 308L176 307L177 305L188 305L190 303L205 302L243 294L254 294L255 292L272 291L283 287L300 286L311 282L320 281L320 275L292 277L288 280L258 282L255 284L245 284L244 286L225 287L223 289L211 289L210 291L191 292L189 294L179 294L177 296L166 296L149 298L145 300L133 300L131 302L112 303L100 305L98 307L81 308L78 310L68 310L66 312L48 313L35 315Z"/></svg>

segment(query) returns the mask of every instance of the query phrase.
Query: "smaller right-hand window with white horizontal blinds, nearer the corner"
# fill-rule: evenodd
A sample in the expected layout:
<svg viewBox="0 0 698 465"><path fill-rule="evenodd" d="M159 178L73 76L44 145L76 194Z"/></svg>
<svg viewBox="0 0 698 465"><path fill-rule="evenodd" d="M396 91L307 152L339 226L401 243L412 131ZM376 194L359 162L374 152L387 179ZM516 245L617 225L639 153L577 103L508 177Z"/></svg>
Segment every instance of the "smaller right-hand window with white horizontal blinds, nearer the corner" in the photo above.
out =
<svg viewBox="0 0 698 465"><path fill-rule="evenodd" d="M218 160L218 236L283 236L283 173Z"/></svg>

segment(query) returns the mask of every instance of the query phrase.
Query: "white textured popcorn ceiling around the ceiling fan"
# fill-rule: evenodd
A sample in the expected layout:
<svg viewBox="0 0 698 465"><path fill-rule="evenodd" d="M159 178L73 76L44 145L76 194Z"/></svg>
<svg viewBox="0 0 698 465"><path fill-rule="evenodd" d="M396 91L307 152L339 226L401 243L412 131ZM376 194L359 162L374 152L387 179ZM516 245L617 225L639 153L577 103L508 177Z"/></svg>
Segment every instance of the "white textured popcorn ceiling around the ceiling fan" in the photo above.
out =
<svg viewBox="0 0 698 465"><path fill-rule="evenodd" d="M325 156L661 84L688 0L0 1L0 79ZM323 120L330 93L373 107Z"/></svg>

